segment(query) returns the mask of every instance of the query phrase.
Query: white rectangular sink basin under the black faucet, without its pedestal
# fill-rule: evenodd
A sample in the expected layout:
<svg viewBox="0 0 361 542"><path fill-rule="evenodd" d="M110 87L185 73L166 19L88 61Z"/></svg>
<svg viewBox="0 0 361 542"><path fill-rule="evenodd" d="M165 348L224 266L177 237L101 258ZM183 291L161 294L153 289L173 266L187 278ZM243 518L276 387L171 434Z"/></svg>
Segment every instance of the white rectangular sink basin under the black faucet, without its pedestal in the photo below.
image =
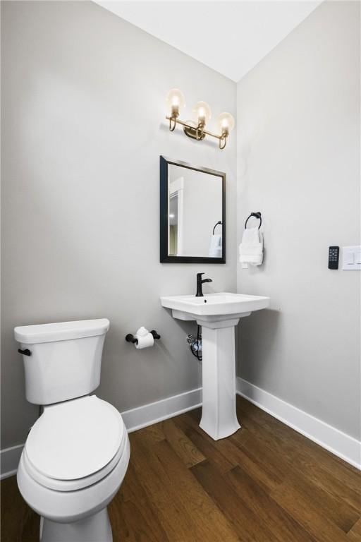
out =
<svg viewBox="0 0 361 542"><path fill-rule="evenodd" d="M253 311L269 306L269 297L245 296L219 292L196 296L163 296L161 304L172 309L174 318L178 320L202 320L216 322L228 318L241 318Z"/></svg>

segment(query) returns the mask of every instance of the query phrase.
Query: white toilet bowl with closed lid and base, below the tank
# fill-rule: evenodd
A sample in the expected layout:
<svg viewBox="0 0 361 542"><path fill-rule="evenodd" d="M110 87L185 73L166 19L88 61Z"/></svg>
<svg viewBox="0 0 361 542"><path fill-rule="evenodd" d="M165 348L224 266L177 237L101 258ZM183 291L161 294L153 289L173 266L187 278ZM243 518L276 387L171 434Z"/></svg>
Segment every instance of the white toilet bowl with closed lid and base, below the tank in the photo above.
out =
<svg viewBox="0 0 361 542"><path fill-rule="evenodd" d="M45 407L18 468L20 493L42 517L40 541L110 542L106 506L129 455L128 433L111 404L92 395Z"/></svg>

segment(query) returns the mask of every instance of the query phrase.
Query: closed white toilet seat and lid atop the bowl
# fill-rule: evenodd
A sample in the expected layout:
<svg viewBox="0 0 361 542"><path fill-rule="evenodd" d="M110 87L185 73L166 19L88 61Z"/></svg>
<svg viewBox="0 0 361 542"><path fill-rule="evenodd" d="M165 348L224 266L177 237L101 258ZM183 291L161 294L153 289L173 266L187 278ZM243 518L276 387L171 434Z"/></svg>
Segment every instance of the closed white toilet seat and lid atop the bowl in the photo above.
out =
<svg viewBox="0 0 361 542"><path fill-rule="evenodd" d="M44 487L85 488L114 469L127 436L121 414L95 395L47 406L25 442L24 466Z"/></svg>

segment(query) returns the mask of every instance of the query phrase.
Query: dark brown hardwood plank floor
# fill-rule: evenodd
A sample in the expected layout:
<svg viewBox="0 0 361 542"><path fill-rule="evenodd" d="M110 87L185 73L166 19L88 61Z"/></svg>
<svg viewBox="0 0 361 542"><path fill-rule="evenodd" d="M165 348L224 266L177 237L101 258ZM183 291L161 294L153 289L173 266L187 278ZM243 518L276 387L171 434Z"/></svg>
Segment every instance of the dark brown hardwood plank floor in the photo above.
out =
<svg viewBox="0 0 361 542"><path fill-rule="evenodd" d="M114 542L361 542L361 472L238 397L215 442L200 409L130 435L109 506ZM39 518L1 483L1 542L37 542ZM71 542L71 541L64 541Z"/></svg>

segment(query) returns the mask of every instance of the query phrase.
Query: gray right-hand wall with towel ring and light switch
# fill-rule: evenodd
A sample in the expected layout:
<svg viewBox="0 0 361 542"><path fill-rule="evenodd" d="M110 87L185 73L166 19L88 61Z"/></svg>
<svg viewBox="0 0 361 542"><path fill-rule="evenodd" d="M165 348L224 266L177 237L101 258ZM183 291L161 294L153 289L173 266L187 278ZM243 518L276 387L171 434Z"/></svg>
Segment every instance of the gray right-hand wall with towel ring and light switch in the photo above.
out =
<svg viewBox="0 0 361 542"><path fill-rule="evenodd" d="M264 265L238 291L240 375L360 438L360 272L327 269L360 243L360 4L324 2L238 83L238 235L264 217ZM240 239L238 239L239 241Z"/></svg>

